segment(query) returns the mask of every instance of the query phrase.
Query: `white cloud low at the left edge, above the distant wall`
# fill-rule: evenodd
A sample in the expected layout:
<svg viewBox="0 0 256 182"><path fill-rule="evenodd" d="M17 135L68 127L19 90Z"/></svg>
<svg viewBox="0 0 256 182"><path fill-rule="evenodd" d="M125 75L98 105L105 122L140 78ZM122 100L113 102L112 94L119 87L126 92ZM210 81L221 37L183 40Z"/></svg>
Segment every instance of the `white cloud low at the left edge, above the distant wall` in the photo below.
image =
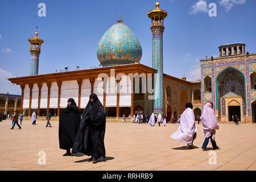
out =
<svg viewBox="0 0 256 182"><path fill-rule="evenodd" d="M19 85L12 84L7 78L14 78L15 76L5 71L4 69L0 68L0 93L7 93L10 94L21 94L21 89Z"/></svg>

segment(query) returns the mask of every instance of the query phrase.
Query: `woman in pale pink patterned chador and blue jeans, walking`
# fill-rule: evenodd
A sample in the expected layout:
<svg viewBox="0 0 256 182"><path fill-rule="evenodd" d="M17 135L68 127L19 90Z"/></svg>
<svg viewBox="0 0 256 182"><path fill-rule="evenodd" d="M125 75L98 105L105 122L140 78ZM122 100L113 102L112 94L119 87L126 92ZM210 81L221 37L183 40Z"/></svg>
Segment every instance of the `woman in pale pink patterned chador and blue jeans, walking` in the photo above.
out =
<svg viewBox="0 0 256 182"><path fill-rule="evenodd" d="M200 117L201 122L203 123L203 131L205 140L202 146L203 151L207 151L207 144L210 142L212 143L213 150L218 149L218 146L215 141L215 134L216 130L219 129L217 117L213 110L213 103L207 102L204 105L203 114Z"/></svg>

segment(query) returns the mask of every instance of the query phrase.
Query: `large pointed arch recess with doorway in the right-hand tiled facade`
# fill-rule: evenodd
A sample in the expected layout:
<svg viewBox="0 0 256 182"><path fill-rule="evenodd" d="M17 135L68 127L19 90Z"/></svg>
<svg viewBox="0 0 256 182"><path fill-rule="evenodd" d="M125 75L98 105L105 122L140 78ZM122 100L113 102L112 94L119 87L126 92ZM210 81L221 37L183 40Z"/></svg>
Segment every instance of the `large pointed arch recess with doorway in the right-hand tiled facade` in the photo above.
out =
<svg viewBox="0 0 256 182"><path fill-rule="evenodd" d="M240 119L241 116L245 116L246 96L243 74L237 69L226 68L217 76L216 85L216 109L219 116L225 113L229 121L232 121L233 114L238 115Z"/></svg>

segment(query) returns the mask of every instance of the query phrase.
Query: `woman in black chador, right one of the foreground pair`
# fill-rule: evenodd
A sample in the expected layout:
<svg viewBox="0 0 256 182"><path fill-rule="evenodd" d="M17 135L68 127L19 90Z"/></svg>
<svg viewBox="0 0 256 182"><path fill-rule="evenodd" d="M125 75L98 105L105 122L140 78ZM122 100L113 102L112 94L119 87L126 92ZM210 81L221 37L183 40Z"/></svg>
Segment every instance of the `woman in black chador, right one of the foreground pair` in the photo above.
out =
<svg viewBox="0 0 256 182"><path fill-rule="evenodd" d="M90 95L90 100L82 114L80 128L77 133L72 153L81 152L92 156L90 160L97 163L97 159L105 159L106 152L104 137L106 129L106 114L104 107L96 94Z"/></svg>

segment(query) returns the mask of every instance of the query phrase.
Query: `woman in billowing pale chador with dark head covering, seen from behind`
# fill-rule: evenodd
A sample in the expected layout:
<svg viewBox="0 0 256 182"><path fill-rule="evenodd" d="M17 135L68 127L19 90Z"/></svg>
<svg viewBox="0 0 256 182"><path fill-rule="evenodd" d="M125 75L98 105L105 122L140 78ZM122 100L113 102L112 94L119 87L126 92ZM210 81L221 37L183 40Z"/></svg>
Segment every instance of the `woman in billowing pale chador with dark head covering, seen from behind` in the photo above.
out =
<svg viewBox="0 0 256 182"><path fill-rule="evenodd" d="M192 103L187 103L185 107L186 109L180 116L179 129L170 135L170 137L187 144L187 148L195 148L193 141L196 139L197 126L195 123L195 114L192 110L193 105Z"/></svg>

